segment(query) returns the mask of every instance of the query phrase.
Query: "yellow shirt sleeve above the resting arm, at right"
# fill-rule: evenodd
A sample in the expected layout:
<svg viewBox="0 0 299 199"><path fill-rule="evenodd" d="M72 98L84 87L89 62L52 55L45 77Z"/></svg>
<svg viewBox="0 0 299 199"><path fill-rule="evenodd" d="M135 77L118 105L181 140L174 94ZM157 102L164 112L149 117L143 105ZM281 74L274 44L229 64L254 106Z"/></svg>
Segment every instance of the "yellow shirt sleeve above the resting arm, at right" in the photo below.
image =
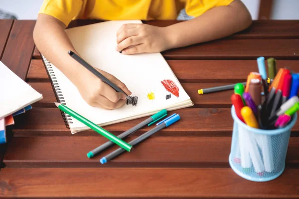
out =
<svg viewBox="0 0 299 199"><path fill-rule="evenodd" d="M199 16L213 7L225 6L234 0L186 0L185 9L189 16Z"/></svg>

